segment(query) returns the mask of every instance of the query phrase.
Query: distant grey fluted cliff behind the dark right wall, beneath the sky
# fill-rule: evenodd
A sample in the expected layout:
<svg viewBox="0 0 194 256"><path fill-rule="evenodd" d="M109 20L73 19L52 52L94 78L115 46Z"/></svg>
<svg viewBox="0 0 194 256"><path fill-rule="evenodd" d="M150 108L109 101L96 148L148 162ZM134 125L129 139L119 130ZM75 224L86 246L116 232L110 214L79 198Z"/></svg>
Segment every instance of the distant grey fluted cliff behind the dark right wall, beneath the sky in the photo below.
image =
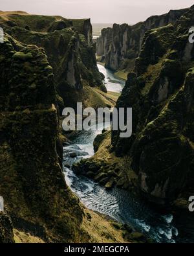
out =
<svg viewBox="0 0 194 256"><path fill-rule="evenodd" d="M131 71L140 53L145 32L169 23L175 24L184 12L186 9L171 10L167 14L149 17L133 26L114 24L113 29L103 29L102 36L97 40L97 54L103 56L102 60L107 68L113 71Z"/></svg>

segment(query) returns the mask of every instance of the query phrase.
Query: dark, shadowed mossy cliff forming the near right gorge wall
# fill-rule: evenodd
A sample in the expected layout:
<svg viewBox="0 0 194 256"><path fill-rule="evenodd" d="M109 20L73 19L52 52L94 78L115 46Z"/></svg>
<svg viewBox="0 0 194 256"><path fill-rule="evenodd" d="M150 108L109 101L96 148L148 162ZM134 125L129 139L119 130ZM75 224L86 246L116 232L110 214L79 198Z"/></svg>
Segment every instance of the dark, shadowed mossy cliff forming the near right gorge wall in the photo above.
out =
<svg viewBox="0 0 194 256"><path fill-rule="evenodd" d="M157 203L193 189L194 47L188 41L191 7L173 25L146 33L134 73L129 73L117 107L133 108L133 135L112 133L117 155L131 156L136 186Z"/></svg>

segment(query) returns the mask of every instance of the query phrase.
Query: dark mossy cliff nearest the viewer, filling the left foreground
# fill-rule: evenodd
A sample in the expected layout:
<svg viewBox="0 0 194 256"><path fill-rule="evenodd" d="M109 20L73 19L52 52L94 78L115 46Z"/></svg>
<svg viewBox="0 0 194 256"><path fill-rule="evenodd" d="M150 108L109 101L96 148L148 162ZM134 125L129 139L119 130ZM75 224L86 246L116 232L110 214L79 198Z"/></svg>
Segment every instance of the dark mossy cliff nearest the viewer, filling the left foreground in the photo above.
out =
<svg viewBox="0 0 194 256"><path fill-rule="evenodd" d="M0 194L14 227L47 241L80 241L83 211L61 170L57 93L47 56L5 34L0 69Z"/></svg>

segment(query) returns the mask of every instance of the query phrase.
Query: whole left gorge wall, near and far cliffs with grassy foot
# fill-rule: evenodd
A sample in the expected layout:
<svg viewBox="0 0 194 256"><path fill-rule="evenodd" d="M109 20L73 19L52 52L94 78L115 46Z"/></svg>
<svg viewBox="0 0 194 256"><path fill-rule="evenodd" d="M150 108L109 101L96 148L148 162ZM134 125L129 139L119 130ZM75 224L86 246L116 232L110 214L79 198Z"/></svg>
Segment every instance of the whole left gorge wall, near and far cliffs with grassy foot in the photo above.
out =
<svg viewBox="0 0 194 256"><path fill-rule="evenodd" d="M133 229L85 209L62 171L63 99L109 102L90 87L102 79L89 19L0 12L0 22L0 242L136 241Z"/></svg>

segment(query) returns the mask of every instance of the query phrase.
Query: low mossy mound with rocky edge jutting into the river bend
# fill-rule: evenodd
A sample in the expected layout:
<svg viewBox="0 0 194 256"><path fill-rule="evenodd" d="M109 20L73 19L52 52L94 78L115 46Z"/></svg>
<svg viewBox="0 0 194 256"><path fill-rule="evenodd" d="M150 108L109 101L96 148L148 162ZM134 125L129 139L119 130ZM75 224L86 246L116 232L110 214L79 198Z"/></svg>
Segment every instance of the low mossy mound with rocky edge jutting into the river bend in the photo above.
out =
<svg viewBox="0 0 194 256"><path fill-rule="evenodd" d="M76 163L73 166L74 172L89 176L105 185L107 189L114 185L123 189L133 189L137 176L133 171L129 172L131 158L116 157L111 148L111 132L98 135L94 140L96 154L90 159L82 159L80 163Z"/></svg>

